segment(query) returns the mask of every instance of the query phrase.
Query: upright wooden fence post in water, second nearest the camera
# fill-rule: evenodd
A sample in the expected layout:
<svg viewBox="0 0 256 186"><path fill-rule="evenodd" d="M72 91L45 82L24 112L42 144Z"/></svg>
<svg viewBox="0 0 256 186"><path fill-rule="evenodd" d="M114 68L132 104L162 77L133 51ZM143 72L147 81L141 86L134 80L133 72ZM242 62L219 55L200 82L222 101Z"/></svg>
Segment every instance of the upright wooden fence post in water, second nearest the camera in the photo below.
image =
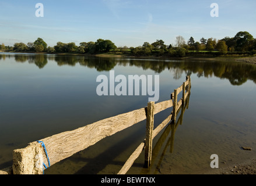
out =
<svg viewBox="0 0 256 186"><path fill-rule="evenodd" d="M149 102L146 118L145 167L149 167L152 158L152 141L154 128L155 102Z"/></svg>

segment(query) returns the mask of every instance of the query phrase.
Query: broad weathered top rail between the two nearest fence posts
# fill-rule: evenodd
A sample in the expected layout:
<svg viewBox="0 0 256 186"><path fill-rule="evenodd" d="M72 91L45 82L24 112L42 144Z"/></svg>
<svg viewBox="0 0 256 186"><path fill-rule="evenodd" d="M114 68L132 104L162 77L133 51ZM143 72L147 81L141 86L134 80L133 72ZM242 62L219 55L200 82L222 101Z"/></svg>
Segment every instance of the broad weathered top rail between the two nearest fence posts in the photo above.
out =
<svg viewBox="0 0 256 186"><path fill-rule="evenodd" d="M131 127L145 119L145 108L142 108L100 120L73 131L52 135L51 137L44 138L40 141L44 142L52 165L62 159L72 156L74 153L96 144L96 142L103 138ZM44 162L47 162L46 156L44 156Z"/></svg>

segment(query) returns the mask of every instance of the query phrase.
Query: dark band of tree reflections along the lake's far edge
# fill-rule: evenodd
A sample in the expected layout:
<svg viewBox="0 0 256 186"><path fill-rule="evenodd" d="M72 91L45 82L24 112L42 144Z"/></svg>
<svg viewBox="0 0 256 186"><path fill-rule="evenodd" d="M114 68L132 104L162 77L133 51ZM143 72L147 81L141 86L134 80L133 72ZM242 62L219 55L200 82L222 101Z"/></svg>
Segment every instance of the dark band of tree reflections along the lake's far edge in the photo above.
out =
<svg viewBox="0 0 256 186"><path fill-rule="evenodd" d="M0 60L5 58L12 58L13 55L0 55ZM48 60L54 60L58 66L69 65L85 66L94 68L97 71L109 71L115 66L136 66L142 67L143 70L154 70L156 73L161 73L163 70L170 70L174 72L174 79L181 78L185 73L191 76L192 73L200 77L218 77L221 79L228 79L232 85L242 85L247 80L253 80L256 83L256 66L241 63L241 62L225 62L225 61L207 61L202 63L200 61L177 61L177 60L152 60L152 59L125 59L125 58L93 58L86 56L72 56L72 55L14 55L16 62L26 62L38 66L43 69L47 65Z"/></svg>

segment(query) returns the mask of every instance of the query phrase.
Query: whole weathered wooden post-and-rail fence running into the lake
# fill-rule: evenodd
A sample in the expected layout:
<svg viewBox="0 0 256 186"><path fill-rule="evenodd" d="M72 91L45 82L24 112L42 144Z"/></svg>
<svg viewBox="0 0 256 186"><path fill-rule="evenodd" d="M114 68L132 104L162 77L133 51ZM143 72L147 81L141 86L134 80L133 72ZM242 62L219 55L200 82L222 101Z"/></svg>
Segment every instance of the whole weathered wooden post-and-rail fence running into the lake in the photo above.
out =
<svg viewBox="0 0 256 186"><path fill-rule="evenodd" d="M146 119L146 139L141 145L132 153L130 158L124 164L118 174L125 174L132 166L136 158L145 149L145 166L149 166L152 160L152 140L159 132L166 127L170 120L176 121L177 113L184 105L188 98L191 89L190 77L181 85L181 87L174 90L171 94L171 100L156 103L149 102L148 107L133 110L118 116L110 117L108 119L97 121L85 127L78 128L73 131L66 131L64 133L52 135L44 138L39 142L31 142L26 148L16 149L13 151L13 174L43 174L44 167L41 166L43 162L47 166L55 164L63 159L72 156L74 153L82 151L96 142L106 138L110 135L131 127L136 123ZM183 97L177 101L178 94L183 91ZM163 110L173 106L173 112L166 120L153 130L154 115ZM42 143L43 142L43 143ZM44 144L44 148L42 148ZM47 152L46 152L47 151ZM50 160L50 161L48 161ZM45 165L46 166L46 165ZM7 173L2 171L2 173ZM0 171L1 174L1 171Z"/></svg>

